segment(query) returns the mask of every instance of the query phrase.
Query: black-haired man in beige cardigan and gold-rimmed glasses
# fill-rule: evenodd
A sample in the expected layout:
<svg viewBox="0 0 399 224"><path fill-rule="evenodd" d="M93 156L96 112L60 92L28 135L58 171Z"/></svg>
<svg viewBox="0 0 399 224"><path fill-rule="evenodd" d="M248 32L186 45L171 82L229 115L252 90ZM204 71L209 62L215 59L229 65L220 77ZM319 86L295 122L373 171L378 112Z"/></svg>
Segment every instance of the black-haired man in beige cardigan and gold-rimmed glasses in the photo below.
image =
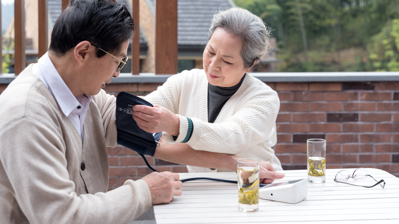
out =
<svg viewBox="0 0 399 224"><path fill-rule="evenodd" d="M107 192L115 97L101 87L126 63L134 21L109 0L71 0L49 52L0 95L0 223L127 223L181 195L179 174Z"/></svg>

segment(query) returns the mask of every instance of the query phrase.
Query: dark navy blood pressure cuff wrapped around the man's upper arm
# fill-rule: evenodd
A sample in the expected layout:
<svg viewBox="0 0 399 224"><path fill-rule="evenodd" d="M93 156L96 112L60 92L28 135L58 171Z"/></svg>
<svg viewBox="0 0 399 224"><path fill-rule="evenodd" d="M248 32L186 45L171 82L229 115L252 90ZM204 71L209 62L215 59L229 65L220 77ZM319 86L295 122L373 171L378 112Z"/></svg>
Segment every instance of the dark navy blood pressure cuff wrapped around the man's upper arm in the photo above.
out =
<svg viewBox="0 0 399 224"><path fill-rule="evenodd" d="M131 116L132 106L136 104L152 106L151 103L131 95L120 92L116 101L116 126L118 130L118 144L135 150L140 154L153 156L162 132L149 133L141 129Z"/></svg>

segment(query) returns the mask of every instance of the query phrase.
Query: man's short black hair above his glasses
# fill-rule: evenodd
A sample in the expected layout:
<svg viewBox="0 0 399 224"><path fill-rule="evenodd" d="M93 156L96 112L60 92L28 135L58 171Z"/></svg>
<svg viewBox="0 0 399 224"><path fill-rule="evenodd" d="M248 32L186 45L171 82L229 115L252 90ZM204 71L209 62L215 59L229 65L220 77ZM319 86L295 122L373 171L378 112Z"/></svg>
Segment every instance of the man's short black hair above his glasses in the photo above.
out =
<svg viewBox="0 0 399 224"><path fill-rule="evenodd" d="M70 0L54 24L49 50L62 56L87 40L112 54L120 50L134 31L131 14L116 1ZM103 51L97 50L97 57L103 55Z"/></svg>

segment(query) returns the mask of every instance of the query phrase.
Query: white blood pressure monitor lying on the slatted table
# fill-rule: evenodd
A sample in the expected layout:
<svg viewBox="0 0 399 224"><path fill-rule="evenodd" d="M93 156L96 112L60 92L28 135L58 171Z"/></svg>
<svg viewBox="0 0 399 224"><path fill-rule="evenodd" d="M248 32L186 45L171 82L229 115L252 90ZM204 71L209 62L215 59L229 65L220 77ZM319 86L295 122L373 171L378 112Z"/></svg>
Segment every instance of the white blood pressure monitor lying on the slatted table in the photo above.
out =
<svg viewBox="0 0 399 224"><path fill-rule="evenodd" d="M296 204L307 196L307 179L277 182L259 188L259 197Z"/></svg>

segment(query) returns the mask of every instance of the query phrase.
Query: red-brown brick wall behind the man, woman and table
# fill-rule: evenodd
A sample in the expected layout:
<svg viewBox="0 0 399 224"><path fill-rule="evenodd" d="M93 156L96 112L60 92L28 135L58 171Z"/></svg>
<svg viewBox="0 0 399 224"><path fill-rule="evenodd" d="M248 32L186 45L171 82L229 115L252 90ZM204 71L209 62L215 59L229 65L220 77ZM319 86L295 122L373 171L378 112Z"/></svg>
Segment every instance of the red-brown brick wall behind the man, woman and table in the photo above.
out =
<svg viewBox="0 0 399 224"><path fill-rule="evenodd" d="M107 84L110 94L145 95L161 83ZM306 169L306 139L327 140L327 168L372 167L399 177L399 82L274 82L279 95L276 155L284 169ZM0 84L0 91L6 87ZM136 152L108 148L109 189L150 173ZM159 171L183 165L148 158Z"/></svg>

